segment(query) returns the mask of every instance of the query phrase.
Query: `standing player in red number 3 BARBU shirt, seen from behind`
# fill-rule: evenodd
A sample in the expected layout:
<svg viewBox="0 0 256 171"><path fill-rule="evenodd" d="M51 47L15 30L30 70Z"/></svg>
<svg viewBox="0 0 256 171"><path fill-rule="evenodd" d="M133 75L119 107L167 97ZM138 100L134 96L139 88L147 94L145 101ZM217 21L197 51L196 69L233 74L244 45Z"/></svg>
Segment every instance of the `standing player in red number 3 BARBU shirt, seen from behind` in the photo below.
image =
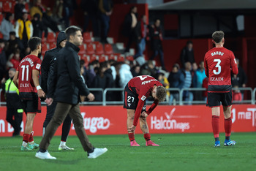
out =
<svg viewBox="0 0 256 171"><path fill-rule="evenodd" d="M231 107L232 107L232 86L231 72L238 74L236 59L232 51L223 47L225 39L223 31L215 31L212 39L216 47L208 50L204 58L206 76L208 77L207 106L211 107L212 129L214 132L215 145L219 147L219 106L222 102L225 117L225 146L235 145L236 141L230 140L231 134Z"/></svg>

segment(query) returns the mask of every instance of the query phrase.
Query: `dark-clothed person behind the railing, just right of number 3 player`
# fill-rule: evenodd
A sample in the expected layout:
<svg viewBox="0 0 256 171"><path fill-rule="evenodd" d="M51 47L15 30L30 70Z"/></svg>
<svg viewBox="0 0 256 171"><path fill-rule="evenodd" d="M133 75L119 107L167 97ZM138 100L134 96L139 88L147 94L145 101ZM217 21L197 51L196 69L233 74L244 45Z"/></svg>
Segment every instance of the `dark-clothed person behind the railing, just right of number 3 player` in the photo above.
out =
<svg viewBox="0 0 256 171"><path fill-rule="evenodd" d="M237 86L239 88L244 88L246 87L247 83L247 76L244 72L244 69L239 65L239 59L236 58L236 64L238 66L238 75L232 75L231 77L231 83L234 86L234 80L238 80ZM242 99L244 99L244 91L241 91L242 94Z"/></svg>

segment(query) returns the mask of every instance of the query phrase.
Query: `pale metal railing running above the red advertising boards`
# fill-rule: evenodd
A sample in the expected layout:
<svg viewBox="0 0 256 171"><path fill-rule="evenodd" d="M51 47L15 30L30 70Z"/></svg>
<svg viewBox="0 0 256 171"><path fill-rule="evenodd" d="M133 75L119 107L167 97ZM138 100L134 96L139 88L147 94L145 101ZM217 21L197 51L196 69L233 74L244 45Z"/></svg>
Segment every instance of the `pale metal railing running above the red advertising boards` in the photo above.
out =
<svg viewBox="0 0 256 171"><path fill-rule="evenodd" d="M249 87L246 88L233 88L233 90L240 90L240 91L249 91L249 94L251 95L251 99L246 99L246 100L242 100L242 101L233 101L233 104L244 104L244 103L249 103L249 104L255 104L256 103L256 88L252 89ZM0 88L0 94L1 94L2 89ZM91 93L94 93L95 91L101 92L102 94L102 101L101 102L82 102L82 104L91 104L91 105L103 105L106 106L108 104L123 104L123 100L121 101L108 101L107 100L107 93L109 91L121 91L123 93L124 88L105 88L105 90L103 90L102 88L89 88L89 91L91 91ZM173 102L169 102L170 97L167 97L167 99L165 100L165 102L161 102L160 104L179 104L179 105L183 105L183 104L206 104L206 100L192 100L192 101L184 101L183 100L183 94L184 91L206 91L206 88L167 88L167 91L170 91L171 93L173 92L177 92L179 98L176 101L176 103L173 104ZM147 104L152 104L154 101L152 100L148 100ZM42 102L42 104L45 104L45 102ZM1 98L0 98L0 106L5 106L6 102L1 102Z"/></svg>

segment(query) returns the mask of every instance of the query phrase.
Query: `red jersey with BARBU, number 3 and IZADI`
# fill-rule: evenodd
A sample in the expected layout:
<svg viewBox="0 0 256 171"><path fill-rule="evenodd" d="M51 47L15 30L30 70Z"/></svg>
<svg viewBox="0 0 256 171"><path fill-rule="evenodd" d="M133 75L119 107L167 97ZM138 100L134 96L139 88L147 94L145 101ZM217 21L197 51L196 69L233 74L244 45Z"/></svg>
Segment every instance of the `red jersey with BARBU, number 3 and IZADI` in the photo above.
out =
<svg viewBox="0 0 256 171"><path fill-rule="evenodd" d="M236 58L232 51L225 47L214 47L208 50L204 58L208 92L227 92L231 90L231 72L238 74Z"/></svg>

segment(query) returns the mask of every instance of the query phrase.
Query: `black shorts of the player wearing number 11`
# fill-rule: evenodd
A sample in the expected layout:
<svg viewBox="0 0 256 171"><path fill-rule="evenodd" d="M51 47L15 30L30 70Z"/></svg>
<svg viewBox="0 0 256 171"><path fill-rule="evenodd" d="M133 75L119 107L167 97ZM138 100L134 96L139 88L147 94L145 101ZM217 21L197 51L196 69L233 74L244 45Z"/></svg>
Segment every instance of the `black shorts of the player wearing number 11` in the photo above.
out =
<svg viewBox="0 0 256 171"><path fill-rule="evenodd" d="M27 113L41 113L41 101L37 99L21 99L24 112Z"/></svg>

